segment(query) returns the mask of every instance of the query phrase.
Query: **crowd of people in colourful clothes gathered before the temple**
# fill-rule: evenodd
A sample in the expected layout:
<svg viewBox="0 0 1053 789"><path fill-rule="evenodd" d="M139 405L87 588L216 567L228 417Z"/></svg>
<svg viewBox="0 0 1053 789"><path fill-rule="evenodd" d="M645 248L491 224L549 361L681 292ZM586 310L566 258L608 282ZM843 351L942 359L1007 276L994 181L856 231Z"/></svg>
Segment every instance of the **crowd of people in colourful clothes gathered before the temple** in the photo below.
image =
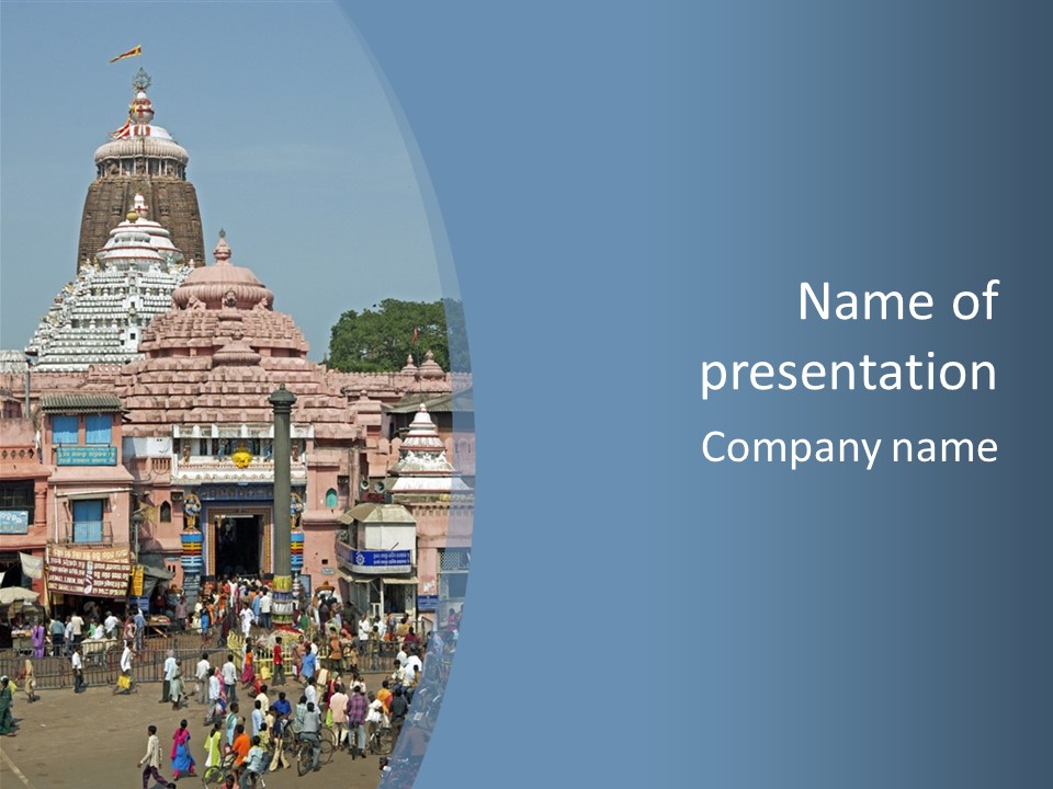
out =
<svg viewBox="0 0 1053 789"><path fill-rule="evenodd" d="M406 615L352 614L346 620L341 602L326 594L297 601L293 628L275 628L272 611L268 586L240 579L207 584L192 607L182 596L176 601L173 629L200 633L202 653L193 676L184 677L180 661L168 651L160 701L179 709L193 697L208 733L195 756L190 725L185 719L180 722L169 752L173 781L197 775L200 757L201 769L229 767L239 786L265 786L265 773L291 766L283 747L290 740L309 743L312 767L319 769L325 728L331 730L336 747L353 758L366 755L375 731L389 729L397 740L426 671L427 640L433 641L432 650L442 651L460 627L460 615L452 609L426 638ZM141 611L133 610L123 620L110 611L87 621L71 614L52 619L46 628L42 624L42 629L50 636L52 654L68 655L75 693L84 690L86 644L106 639L121 643L113 691L135 690L134 666L146 629ZM210 659L216 645L227 648L218 666ZM34 640L37 655L35 649ZM32 675L32 661L26 663ZM366 673L373 675L369 682ZM0 734L13 734L10 707L4 678ZM166 784L161 753L156 727L150 725L139 761L144 787L150 779Z"/></svg>

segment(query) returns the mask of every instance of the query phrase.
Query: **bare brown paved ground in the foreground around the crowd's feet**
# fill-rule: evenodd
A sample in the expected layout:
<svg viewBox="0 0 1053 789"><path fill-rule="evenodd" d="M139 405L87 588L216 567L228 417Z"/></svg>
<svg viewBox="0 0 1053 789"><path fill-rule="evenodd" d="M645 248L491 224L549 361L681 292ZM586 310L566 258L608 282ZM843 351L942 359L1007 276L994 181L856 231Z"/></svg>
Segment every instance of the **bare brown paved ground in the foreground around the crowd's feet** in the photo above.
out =
<svg viewBox="0 0 1053 789"><path fill-rule="evenodd" d="M378 675L366 675L370 688L380 685ZM292 697L299 686L290 684ZM275 691L276 693L276 691ZM146 751L146 728L157 727L166 756L161 774L171 777L167 758L172 732L185 718L190 723L194 758L199 771L205 763L204 708L191 701L182 711L159 704L161 686L145 684L138 693L114 696L109 687L89 687L82 694L71 689L41 690L41 700L27 704L19 690L14 716L18 736L0 737L0 787L3 789L139 789L141 768L136 767ZM267 776L268 789L374 789L380 778L377 757L352 759L346 753L333 755L321 771L303 778L295 768ZM151 785L156 786L156 785ZM181 789L201 787L197 778L181 778Z"/></svg>

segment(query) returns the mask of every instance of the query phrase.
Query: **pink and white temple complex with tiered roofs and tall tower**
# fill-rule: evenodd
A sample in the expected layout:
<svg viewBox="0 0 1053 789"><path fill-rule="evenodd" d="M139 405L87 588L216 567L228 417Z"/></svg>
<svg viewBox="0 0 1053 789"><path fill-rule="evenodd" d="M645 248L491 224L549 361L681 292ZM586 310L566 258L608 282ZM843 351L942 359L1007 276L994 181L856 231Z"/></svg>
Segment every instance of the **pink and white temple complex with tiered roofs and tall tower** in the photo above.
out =
<svg viewBox="0 0 1053 789"><path fill-rule="evenodd" d="M296 398L297 593L327 583L355 610L417 618L458 605L475 470L474 438L454 418L471 426L471 381L430 352L390 373L309 361L294 319L223 231L214 262L190 266L166 203L176 184L193 195L185 153L150 125L146 87L97 155L95 185L114 184L107 199L123 202L124 219L87 242L26 359L0 358L0 565L21 562L23 583L43 591L35 562L46 559L48 603L67 608L148 595L151 583L193 599L218 576L272 578L269 398L284 387ZM86 569L97 574L87 586Z"/></svg>

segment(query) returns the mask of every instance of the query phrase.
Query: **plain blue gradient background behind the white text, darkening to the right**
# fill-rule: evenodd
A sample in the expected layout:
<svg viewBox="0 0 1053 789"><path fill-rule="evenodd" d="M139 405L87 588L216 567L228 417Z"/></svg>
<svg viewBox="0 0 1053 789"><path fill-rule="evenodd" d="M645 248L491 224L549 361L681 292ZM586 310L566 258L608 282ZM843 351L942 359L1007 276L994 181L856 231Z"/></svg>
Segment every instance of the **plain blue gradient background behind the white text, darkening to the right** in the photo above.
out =
<svg viewBox="0 0 1053 789"><path fill-rule="evenodd" d="M1053 784L1048 7L344 4L434 186L476 380L468 608L418 785ZM989 278L995 320L951 318ZM802 323L805 279L938 317ZM929 350L997 391L701 399L703 359ZM712 428L1000 459L717 466Z"/></svg>

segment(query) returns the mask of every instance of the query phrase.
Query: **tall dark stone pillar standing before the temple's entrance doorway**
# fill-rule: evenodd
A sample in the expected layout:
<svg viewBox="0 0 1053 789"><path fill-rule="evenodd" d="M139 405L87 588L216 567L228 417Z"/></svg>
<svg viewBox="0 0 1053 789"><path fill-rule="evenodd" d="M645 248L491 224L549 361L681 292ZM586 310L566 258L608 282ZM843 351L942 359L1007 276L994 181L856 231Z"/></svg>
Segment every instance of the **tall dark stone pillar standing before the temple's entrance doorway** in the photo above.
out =
<svg viewBox="0 0 1053 789"><path fill-rule="evenodd" d="M282 384L268 398L274 410L274 627L293 626L293 571L290 539L292 531L292 464L290 428L296 396Z"/></svg>

